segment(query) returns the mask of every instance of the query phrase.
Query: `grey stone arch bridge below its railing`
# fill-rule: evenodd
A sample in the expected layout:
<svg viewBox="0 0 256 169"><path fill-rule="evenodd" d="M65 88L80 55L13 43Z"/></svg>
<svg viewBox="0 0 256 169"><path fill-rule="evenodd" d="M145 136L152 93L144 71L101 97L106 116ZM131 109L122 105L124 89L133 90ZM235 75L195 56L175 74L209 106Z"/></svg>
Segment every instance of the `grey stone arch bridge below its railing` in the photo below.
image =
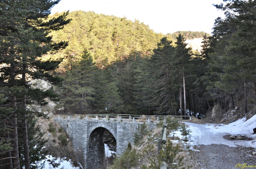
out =
<svg viewBox="0 0 256 169"><path fill-rule="evenodd" d="M106 166L104 164L106 163L104 143L116 144L116 153L120 155L127 148L128 142L133 143L136 127L143 124L142 122L93 119L55 118L55 121L68 134L73 143L76 157L84 169L104 168ZM146 124L150 129L156 128L156 123ZM105 136L109 135L106 132L113 135L112 141L104 140Z"/></svg>

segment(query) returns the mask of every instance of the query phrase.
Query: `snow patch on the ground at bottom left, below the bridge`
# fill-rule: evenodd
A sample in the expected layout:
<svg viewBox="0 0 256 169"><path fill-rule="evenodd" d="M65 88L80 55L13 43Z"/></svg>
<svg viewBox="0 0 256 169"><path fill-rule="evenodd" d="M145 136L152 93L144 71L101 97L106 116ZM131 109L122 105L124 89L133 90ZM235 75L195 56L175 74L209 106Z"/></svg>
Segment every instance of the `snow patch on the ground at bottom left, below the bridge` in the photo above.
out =
<svg viewBox="0 0 256 169"><path fill-rule="evenodd" d="M79 169L79 167L74 167L72 161L64 158L56 158L51 155L47 155L45 160L38 162L37 166L41 166L45 162L44 169ZM53 164L55 167L53 167Z"/></svg>

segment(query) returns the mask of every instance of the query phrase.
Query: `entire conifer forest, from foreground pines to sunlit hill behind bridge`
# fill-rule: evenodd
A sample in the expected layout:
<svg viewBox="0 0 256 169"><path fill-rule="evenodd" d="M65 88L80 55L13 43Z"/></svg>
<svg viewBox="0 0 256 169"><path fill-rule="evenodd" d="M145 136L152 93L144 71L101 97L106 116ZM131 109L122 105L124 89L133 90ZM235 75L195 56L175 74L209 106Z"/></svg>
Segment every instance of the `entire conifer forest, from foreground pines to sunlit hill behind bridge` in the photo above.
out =
<svg viewBox="0 0 256 169"><path fill-rule="evenodd" d="M256 104L256 1L224 0L211 34L155 33L139 20L50 14L60 0L0 2L0 168L33 169L47 152L35 105L60 114L189 115ZM202 50L186 39L202 38ZM40 88L36 81L50 87Z"/></svg>

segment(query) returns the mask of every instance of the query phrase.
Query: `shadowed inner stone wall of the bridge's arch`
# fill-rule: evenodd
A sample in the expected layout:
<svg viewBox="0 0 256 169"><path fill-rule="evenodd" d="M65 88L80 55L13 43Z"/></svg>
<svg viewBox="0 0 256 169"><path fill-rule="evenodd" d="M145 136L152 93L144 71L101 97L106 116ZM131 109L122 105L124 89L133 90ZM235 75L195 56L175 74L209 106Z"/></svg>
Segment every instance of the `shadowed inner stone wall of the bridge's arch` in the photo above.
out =
<svg viewBox="0 0 256 169"><path fill-rule="evenodd" d="M116 145L116 139L113 133L105 127L96 127L92 132L88 133L86 168L105 169L106 163L109 163L113 160L110 159L110 161L108 161L108 158L105 158L104 134L106 132L108 133L107 135L113 136L112 138L114 139ZM106 142L111 142L111 139L108 139Z"/></svg>

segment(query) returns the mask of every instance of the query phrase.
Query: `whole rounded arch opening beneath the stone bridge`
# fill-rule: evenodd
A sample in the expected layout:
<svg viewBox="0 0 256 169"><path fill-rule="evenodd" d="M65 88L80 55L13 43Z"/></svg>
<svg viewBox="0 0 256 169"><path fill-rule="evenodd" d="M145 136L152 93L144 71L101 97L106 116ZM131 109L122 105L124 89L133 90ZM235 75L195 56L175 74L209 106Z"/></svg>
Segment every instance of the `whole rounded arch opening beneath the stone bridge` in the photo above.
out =
<svg viewBox="0 0 256 169"><path fill-rule="evenodd" d="M86 168L106 169L116 156L116 139L104 127L95 128L87 144Z"/></svg>

